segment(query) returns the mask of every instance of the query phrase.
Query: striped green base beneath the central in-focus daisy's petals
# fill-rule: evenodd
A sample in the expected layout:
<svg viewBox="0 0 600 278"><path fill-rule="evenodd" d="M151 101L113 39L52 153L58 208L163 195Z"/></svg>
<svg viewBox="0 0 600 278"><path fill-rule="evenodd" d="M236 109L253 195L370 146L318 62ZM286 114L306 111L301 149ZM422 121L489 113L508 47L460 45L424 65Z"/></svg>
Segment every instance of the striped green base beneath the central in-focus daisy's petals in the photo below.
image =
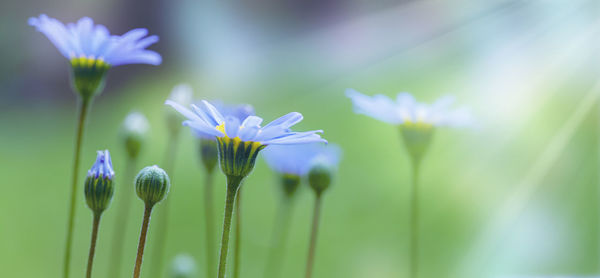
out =
<svg viewBox="0 0 600 278"><path fill-rule="evenodd" d="M226 176L244 178L254 169L258 152L266 146L258 142L243 142L239 137L233 139L217 137L217 149L221 171Z"/></svg>

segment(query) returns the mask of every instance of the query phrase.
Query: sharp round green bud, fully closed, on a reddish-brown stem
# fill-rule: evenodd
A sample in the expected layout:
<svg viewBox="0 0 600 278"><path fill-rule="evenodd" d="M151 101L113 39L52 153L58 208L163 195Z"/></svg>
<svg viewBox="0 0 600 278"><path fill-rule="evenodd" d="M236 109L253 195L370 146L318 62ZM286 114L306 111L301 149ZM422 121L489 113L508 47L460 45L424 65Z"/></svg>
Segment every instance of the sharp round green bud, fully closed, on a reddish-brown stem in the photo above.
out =
<svg viewBox="0 0 600 278"><path fill-rule="evenodd" d="M158 166L148 166L135 177L135 191L147 206L154 206L169 193L171 182L165 170Z"/></svg>

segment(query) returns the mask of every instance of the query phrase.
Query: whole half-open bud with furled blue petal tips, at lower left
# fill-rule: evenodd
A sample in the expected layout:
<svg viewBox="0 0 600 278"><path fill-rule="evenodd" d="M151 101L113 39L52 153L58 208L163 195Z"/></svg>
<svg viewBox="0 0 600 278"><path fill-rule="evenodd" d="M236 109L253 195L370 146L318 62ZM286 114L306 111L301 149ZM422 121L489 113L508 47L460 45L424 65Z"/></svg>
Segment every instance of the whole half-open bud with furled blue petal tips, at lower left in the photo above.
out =
<svg viewBox="0 0 600 278"><path fill-rule="evenodd" d="M108 150L98 151L96 162L88 171L84 183L85 201L94 213L102 213L112 200L115 172Z"/></svg>

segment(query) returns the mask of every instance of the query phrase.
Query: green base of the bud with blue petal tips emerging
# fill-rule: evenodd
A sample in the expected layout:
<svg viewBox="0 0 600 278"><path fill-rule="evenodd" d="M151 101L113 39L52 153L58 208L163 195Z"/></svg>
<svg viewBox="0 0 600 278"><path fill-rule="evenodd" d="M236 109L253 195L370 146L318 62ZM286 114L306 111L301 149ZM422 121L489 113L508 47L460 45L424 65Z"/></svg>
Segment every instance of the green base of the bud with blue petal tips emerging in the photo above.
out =
<svg viewBox="0 0 600 278"><path fill-rule="evenodd" d="M108 177L88 176L85 179L84 194L88 207L94 213L102 213L108 208L112 200L114 194L113 181Z"/></svg>

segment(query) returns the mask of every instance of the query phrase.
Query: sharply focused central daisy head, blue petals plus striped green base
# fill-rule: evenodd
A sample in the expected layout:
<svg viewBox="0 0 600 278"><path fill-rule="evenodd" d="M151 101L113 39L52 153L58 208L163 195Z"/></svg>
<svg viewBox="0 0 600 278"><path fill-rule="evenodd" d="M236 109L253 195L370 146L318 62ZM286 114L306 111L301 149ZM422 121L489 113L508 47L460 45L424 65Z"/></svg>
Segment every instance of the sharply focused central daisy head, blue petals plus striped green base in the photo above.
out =
<svg viewBox="0 0 600 278"><path fill-rule="evenodd" d="M326 142L321 138L321 130L294 132L290 128L302 121L302 114L292 112L265 126L258 116L248 116L240 120L234 116L223 116L207 101L200 106L192 105L191 110L170 100L170 105L187 118L183 125L194 132L217 139L217 149L221 170L227 176L243 178L254 168L256 157L268 145L293 145Z"/></svg>

